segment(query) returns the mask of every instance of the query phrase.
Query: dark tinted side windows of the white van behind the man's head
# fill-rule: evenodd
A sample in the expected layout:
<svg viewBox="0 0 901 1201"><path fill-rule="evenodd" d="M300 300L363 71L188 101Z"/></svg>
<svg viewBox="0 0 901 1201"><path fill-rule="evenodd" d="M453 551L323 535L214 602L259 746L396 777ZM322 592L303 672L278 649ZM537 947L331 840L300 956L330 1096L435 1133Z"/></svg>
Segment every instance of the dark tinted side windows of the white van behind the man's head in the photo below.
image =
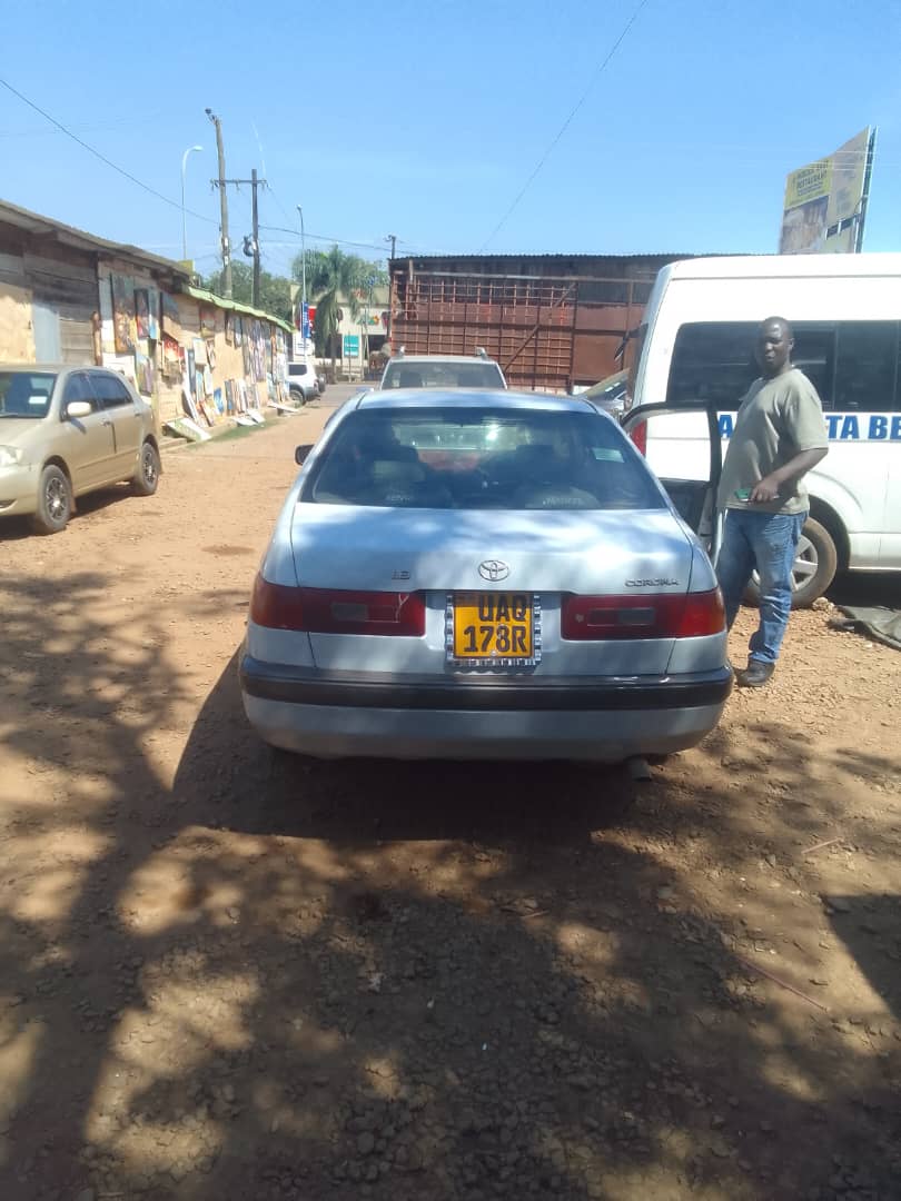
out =
<svg viewBox="0 0 901 1201"><path fill-rule="evenodd" d="M758 322L697 322L676 334L667 404L712 401L734 410L760 374L753 348ZM795 366L827 412L891 412L899 400L896 321L796 322Z"/></svg>

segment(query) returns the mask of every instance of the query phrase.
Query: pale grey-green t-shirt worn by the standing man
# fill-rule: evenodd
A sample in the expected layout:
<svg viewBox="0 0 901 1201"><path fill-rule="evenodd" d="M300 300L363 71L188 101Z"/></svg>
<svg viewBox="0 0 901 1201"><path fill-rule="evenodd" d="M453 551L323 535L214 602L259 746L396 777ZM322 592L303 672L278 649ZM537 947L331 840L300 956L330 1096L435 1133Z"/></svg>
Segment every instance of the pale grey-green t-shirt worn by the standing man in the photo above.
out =
<svg viewBox="0 0 901 1201"><path fill-rule="evenodd" d="M800 479L783 484L776 500L765 504L750 504L735 494L753 488L802 450L828 446L823 406L802 371L790 368L775 380L754 380L739 402L720 479L720 507L750 513L806 513L807 489Z"/></svg>

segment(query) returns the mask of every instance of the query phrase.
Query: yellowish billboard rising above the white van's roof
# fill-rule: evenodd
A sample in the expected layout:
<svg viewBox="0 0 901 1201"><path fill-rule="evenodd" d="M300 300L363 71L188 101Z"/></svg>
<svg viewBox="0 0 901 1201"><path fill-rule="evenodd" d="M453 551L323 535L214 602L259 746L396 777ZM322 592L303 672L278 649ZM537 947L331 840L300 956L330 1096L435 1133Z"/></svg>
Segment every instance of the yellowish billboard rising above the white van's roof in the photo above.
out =
<svg viewBox="0 0 901 1201"><path fill-rule="evenodd" d="M786 180L781 255L855 252L863 246L875 130L861 130L827 159Z"/></svg>

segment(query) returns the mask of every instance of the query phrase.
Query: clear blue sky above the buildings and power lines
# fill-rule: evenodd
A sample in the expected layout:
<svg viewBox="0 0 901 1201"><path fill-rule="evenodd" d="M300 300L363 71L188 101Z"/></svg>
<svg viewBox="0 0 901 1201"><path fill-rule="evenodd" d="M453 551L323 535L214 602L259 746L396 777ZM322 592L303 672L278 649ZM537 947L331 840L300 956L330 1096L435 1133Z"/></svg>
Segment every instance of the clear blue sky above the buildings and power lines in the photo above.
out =
<svg viewBox="0 0 901 1201"><path fill-rule="evenodd" d="M865 249L901 250L897 0L382 0L249 6L31 0L0 76L178 202L215 267L215 136L270 190L264 265L340 239L402 252L766 252L786 173L878 126ZM514 198L585 92L514 210ZM0 88L0 197L180 257L181 216ZM233 243L250 195L229 193ZM493 235L494 234L494 235ZM489 240L490 239L490 240ZM360 247L351 243L368 244ZM371 246L371 249L369 249Z"/></svg>

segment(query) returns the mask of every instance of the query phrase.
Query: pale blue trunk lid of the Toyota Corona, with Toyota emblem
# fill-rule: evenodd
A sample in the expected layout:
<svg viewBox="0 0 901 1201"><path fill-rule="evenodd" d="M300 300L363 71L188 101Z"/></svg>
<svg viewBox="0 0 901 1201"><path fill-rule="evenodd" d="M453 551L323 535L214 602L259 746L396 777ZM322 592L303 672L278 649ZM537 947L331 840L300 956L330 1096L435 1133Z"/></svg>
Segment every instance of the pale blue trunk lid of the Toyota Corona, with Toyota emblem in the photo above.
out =
<svg viewBox="0 0 901 1201"><path fill-rule="evenodd" d="M449 631L463 592L525 594L541 613L536 675L663 674L672 638L561 637L568 594L685 594L692 539L667 509L542 512L358 508L299 503L292 524L298 584L347 592L420 593L417 638L311 633L318 667L453 674ZM505 667L503 670L511 670Z"/></svg>

